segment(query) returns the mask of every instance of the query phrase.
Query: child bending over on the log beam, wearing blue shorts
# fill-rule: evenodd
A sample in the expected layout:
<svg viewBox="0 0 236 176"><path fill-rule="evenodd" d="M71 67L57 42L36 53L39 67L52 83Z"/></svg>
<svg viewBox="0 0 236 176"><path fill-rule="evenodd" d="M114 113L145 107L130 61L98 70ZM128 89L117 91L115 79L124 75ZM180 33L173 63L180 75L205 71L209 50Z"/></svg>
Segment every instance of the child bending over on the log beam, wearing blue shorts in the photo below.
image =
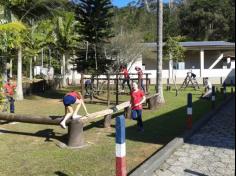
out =
<svg viewBox="0 0 236 176"><path fill-rule="evenodd" d="M78 111L79 111L81 105L83 106L83 108L86 112L86 115L88 115L88 111L87 111L87 108L84 104L82 96L80 93L78 93L76 91L71 91L68 94L66 94L63 98L63 103L65 106L65 114L66 115L65 115L65 118L61 121L60 125L64 129L66 129L66 121L69 118L72 117L73 119L75 119L75 118L80 117L77 114L78 114ZM73 110L72 104L77 104L75 111Z"/></svg>

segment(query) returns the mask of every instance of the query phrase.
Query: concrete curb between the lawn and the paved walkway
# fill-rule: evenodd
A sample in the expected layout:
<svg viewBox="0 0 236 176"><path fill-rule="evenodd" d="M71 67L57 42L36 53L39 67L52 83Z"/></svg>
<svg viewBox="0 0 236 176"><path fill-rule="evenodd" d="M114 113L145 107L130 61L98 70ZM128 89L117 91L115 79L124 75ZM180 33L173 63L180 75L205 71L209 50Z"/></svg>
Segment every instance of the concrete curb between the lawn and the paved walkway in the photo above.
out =
<svg viewBox="0 0 236 176"><path fill-rule="evenodd" d="M224 100L220 106L218 106L215 110L207 113L201 118L192 128L184 133L181 137L176 137L171 142L169 142L163 149L157 152L154 156L144 162L138 169L129 174L129 176L151 176L158 170L160 166L168 159L173 152L181 147L184 144L184 141L188 140L191 136L193 136L198 130L200 130L207 122L209 122L214 115L216 115L225 105L227 105L235 95L231 95L229 98Z"/></svg>

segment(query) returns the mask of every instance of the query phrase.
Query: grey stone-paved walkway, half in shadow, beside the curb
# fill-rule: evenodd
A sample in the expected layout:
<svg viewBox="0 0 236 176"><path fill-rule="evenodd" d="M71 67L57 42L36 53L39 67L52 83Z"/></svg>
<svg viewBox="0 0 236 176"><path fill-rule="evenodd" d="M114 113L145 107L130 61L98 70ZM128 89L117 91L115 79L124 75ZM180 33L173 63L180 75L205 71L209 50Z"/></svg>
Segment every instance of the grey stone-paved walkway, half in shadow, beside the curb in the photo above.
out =
<svg viewBox="0 0 236 176"><path fill-rule="evenodd" d="M178 149L153 176L234 176L235 100Z"/></svg>

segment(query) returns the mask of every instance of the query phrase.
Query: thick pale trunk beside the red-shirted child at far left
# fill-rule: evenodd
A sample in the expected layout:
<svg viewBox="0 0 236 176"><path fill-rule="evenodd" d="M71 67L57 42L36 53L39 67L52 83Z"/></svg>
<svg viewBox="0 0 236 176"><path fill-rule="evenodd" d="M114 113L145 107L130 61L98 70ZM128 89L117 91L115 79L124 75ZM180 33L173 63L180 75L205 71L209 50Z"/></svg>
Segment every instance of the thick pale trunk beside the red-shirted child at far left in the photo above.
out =
<svg viewBox="0 0 236 176"><path fill-rule="evenodd" d="M16 100L23 100L23 86L22 86L22 48L18 48L18 63L17 63L17 88Z"/></svg>

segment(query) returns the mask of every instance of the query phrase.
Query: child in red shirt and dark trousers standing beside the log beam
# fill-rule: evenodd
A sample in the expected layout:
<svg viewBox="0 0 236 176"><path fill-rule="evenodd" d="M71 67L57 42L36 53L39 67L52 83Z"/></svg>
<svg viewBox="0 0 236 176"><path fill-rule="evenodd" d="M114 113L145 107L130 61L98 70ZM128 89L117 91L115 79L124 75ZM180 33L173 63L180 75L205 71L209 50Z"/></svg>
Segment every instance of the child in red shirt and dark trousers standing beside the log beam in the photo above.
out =
<svg viewBox="0 0 236 176"><path fill-rule="evenodd" d="M139 131L144 131L143 120L142 120L142 104L146 101L145 94L138 88L137 83L132 85L133 91L131 93L131 108L132 108L132 119L137 119L137 125Z"/></svg>

